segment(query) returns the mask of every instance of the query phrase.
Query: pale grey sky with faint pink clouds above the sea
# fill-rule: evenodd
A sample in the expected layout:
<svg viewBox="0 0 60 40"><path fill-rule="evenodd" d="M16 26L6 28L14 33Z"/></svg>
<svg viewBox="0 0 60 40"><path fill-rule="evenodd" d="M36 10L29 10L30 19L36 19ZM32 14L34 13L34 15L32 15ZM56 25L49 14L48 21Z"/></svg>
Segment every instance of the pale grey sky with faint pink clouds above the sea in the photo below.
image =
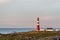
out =
<svg viewBox="0 0 60 40"><path fill-rule="evenodd" d="M0 28L60 28L60 0L0 0Z"/></svg>

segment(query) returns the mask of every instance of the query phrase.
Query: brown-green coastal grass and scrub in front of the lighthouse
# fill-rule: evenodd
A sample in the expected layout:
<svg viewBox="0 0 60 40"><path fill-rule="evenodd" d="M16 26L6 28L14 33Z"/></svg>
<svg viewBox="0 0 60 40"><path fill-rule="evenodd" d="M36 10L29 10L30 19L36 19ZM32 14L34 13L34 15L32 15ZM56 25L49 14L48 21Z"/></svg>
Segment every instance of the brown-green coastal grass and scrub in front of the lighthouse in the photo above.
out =
<svg viewBox="0 0 60 40"><path fill-rule="evenodd" d="M29 31L29 32L14 32L10 34L1 34L0 40L40 40L45 37L60 36L60 31Z"/></svg>

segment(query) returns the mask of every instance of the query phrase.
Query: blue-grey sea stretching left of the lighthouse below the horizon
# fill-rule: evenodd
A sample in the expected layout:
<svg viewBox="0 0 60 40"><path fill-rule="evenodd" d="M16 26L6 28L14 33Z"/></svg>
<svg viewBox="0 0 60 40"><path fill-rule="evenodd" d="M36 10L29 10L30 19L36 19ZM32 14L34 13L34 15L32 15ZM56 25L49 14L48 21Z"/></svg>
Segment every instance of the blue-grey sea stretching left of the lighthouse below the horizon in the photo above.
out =
<svg viewBox="0 0 60 40"><path fill-rule="evenodd" d="M0 28L0 33L9 34L14 32L28 32L32 30L36 30L36 29L35 28Z"/></svg>

